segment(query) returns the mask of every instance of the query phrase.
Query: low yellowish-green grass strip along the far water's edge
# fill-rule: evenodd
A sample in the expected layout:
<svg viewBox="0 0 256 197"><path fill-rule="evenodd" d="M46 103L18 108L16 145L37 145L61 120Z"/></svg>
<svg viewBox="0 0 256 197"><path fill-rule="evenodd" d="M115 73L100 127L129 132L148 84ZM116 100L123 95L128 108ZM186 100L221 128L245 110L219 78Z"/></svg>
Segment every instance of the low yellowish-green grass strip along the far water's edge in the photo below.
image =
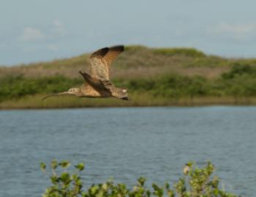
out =
<svg viewBox="0 0 256 197"><path fill-rule="evenodd" d="M0 110L8 109L77 109L103 107L207 107L207 106L256 106L256 97L203 96L195 98L163 98L147 93L132 95L131 101L118 99L87 99L72 96L56 97L42 101L45 95L25 96L0 102Z"/></svg>

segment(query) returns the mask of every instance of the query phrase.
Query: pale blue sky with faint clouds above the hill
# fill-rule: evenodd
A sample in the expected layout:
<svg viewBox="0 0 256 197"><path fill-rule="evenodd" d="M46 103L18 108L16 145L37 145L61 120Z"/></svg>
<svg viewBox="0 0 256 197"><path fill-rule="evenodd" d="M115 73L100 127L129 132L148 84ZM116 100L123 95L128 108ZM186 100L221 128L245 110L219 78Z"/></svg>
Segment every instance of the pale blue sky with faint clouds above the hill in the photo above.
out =
<svg viewBox="0 0 256 197"><path fill-rule="evenodd" d="M256 58L255 7L255 0L0 0L0 65L118 44Z"/></svg>

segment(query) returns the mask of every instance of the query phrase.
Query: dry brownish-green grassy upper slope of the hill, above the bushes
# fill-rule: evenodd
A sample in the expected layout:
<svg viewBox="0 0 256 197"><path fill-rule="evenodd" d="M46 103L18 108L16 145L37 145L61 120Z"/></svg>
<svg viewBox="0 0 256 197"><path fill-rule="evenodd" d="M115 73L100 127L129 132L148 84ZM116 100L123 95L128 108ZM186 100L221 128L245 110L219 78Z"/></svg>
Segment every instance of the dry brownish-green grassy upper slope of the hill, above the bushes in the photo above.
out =
<svg viewBox="0 0 256 197"><path fill-rule="evenodd" d="M208 62L211 62L211 65L208 65ZM221 66L222 63L218 63L218 68L214 68L213 65L216 62L222 62L225 66ZM143 46L125 47L124 53L114 62L113 67L115 68L111 73L113 78L147 78L148 76L155 77L157 75L173 72L184 75L190 75L191 73L192 75L197 75L201 74L201 70L204 71L206 68L209 69L208 72L216 69L224 71L230 68L223 58L201 54L201 52L194 49L148 48ZM88 69L89 54L83 54L73 58L64 58L49 62L0 67L0 77L7 75L50 77L59 74L64 77L75 78L79 77L78 71ZM206 74L206 72L204 74ZM219 72L217 74L219 74Z"/></svg>

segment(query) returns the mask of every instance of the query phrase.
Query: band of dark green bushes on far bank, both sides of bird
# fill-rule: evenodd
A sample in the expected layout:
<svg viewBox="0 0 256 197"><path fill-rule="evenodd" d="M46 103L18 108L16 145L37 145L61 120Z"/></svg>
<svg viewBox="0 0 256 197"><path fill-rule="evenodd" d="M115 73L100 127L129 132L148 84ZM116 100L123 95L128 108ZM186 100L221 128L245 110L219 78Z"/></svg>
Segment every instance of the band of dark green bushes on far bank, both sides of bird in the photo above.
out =
<svg viewBox="0 0 256 197"><path fill-rule="evenodd" d="M256 96L256 67L246 64L234 64L232 69L221 77L208 80L206 77L188 77L179 74L165 74L152 78L113 80L117 87L127 88L129 92L143 93L170 99L203 96ZM57 93L82 85L80 78L63 76L26 78L0 78L0 102L8 99L20 99L34 94Z"/></svg>

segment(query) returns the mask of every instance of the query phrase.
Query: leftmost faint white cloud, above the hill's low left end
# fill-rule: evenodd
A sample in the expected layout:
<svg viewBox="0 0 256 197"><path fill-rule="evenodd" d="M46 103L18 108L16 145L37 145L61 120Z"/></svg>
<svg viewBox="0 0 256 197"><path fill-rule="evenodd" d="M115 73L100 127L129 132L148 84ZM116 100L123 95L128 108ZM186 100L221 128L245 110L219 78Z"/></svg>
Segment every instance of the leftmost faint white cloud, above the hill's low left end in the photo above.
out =
<svg viewBox="0 0 256 197"><path fill-rule="evenodd" d="M23 33L20 39L23 41L40 41L45 39L45 34L42 33L38 28L27 27L23 28Z"/></svg>

